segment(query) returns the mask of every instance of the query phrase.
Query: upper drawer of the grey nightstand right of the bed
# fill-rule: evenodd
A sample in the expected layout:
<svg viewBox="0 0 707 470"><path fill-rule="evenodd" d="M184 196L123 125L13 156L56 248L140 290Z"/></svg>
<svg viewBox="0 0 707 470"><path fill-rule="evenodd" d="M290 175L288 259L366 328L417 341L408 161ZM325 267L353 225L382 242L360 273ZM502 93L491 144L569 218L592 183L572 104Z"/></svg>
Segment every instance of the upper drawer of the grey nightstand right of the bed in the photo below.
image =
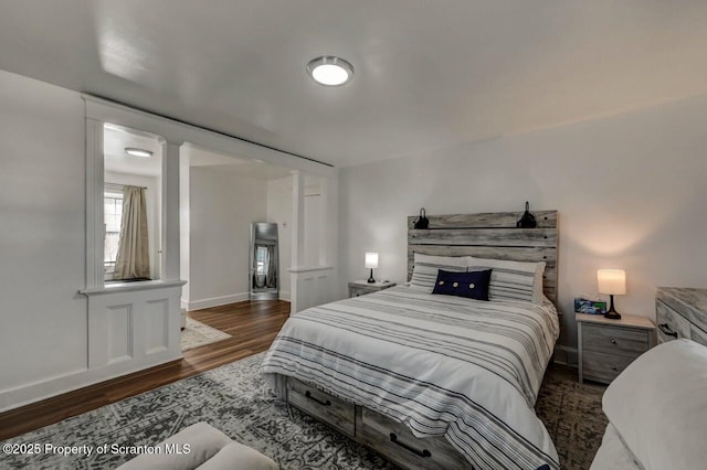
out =
<svg viewBox="0 0 707 470"><path fill-rule="evenodd" d="M650 348L646 330L632 330L605 324L584 324L582 330L582 348L587 352L637 357Z"/></svg>

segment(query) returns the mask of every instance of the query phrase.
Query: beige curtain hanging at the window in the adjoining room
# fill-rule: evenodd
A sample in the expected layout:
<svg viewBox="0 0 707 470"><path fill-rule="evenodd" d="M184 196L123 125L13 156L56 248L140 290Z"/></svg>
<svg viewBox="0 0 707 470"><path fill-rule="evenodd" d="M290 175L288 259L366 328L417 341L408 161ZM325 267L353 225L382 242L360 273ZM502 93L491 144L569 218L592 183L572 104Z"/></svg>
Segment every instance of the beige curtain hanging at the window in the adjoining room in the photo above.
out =
<svg viewBox="0 0 707 470"><path fill-rule="evenodd" d="M120 239L113 279L149 279L150 255L147 235L145 189L125 186Z"/></svg>

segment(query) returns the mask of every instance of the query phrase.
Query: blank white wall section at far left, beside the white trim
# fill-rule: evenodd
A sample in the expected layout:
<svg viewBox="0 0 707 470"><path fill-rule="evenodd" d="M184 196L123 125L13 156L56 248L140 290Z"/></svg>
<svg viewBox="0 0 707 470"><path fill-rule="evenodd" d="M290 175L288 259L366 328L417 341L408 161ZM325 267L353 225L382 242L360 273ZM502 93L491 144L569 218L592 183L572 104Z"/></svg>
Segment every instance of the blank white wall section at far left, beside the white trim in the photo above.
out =
<svg viewBox="0 0 707 470"><path fill-rule="evenodd" d="M87 366L84 133L77 93L0 71L0 393Z"/></svg>

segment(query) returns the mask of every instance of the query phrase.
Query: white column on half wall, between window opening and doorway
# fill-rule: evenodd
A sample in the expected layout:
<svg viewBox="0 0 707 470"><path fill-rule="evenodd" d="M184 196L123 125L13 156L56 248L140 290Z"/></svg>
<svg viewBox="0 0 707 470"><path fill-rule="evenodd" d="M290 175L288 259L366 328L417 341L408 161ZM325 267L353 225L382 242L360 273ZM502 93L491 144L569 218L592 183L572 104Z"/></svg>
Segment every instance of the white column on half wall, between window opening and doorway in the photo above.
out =
<svg viewBox="0 0 707 470"><path fill-rule="evenodd" d="M179 148L182 142L162 141L162 280L179 279Z"/></svg>

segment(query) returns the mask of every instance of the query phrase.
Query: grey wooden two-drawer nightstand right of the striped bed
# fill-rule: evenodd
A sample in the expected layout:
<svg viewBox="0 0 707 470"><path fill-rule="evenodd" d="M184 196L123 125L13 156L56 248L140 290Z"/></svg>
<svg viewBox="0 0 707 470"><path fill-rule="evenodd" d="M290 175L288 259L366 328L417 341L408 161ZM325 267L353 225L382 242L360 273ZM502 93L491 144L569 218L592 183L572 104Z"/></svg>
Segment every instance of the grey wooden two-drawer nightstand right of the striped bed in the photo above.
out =
<svg viewBox="0 0 707 470"><path fill-rule="evenodd" d="M637 356L655 345L655 324L645 317L577 313L579 382L610 384Z"/></svg>

